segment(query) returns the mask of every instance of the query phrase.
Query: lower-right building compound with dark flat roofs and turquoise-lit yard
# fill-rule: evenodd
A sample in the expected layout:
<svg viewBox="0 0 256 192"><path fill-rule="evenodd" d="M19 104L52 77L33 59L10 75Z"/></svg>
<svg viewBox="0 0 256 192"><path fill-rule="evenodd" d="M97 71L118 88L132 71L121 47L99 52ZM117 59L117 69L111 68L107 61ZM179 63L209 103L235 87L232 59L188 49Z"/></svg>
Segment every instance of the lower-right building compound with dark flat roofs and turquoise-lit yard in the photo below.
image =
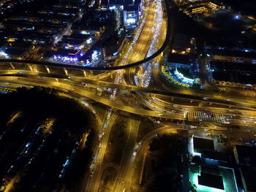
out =
<svg viewBox="0 0 256 192"><path fill-rule="evenodd" d="M197 192L234 191L237 183L234 169L227 159L227 153L216 150L213 139L192 137L189 139L189 153L192 163L189 164L189 181ZM196 161L195 156L200 158Z"/></svg>

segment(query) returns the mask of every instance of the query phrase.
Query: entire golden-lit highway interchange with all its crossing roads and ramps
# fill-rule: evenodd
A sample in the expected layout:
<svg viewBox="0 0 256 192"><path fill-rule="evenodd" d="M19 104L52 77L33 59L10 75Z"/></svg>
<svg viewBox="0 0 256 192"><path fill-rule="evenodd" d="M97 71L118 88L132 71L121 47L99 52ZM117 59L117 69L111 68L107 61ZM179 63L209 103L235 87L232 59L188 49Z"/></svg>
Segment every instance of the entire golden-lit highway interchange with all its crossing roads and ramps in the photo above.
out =
<svg viewBox="0 0 256 192"><path fill-rule="evenodd" d="M165 2L160 2L164 6ZM156 5L157 1L146 1L144 18L135 32L135 39L125 46L121 59L118 59L115 66L125 66L147 57L151 43L154 41L154 33L157 31L152 28L156 26L156 22L159 22L154 19L159 9ZM165 12L161 22L159 30L166 31ZM159 32L155 48L158 50L164 42L165 36ZM159 55L150 61L153 67L149 67L152 71L148 72L148 75L151 75L155 82L161 82L161 74L157 67L161 57L162 55ZM147 65L143 64L143 66ZM138 183L138 177L140 177L138 163L142 161L148 143L156 134L173 134L179 129L222 132L229 131L230 126L244 127L244 130L237 132L254 131L256 126L255 99L244 100L239 96L231 97L229 94L207 91L177 90L176 88L165 90L162 83L157 87L144 87L140 77L147 69L143 69L143 66L118 71L92 72L83 69L61 69L54 66L5 62L1 63L0 82L1 85L11 88L23 85L55 88L72 98L78 100L86 98L105 105L104 118L100 118L97 110L94 110L94 102L84 103L85 107L88 107L97 118L97 132L99 132L99 141L94 149L94 160L91 163L91 177L83 188L84 191L89 192L99 191L102 167L105 164L104 157L109 147L111 129L114 128L119 111L129 113L132 118L129 120L127 129L125 153L121 158L121 164L116 168L118 174L110 189L113 192L131 191L132 185ZM83 103L83 99L80 102ZM190 117L188 113L198 117ZM162 128L148 132L146 136L138 139L140 116L151 118L161 124Z"/></svg>

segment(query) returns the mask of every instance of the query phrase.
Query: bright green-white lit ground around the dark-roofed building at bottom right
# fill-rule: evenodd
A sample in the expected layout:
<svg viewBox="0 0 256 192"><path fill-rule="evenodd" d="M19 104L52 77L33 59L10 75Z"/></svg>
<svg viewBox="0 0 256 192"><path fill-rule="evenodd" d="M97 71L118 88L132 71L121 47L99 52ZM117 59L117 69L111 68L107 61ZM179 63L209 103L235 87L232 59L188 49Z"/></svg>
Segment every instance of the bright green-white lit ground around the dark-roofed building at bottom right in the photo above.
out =
<svg viewBox="0 0 256 192"><path fill-rule="evenodd" d="M219 166L219 175L222 176L224 190L219 189L219 188L212 188L212 187L205 186L205 185L199 185L197 176L200 175L200 172L201 172L200 166L197 166L195 164L191 164L189 166L189 180L192 183L192 185L195 186L195 190L197 192L211 192L211 191L214 191L214 192L230 192L230 191L237 192L238 191L237 186L236 186L236 178L235 178L233 169Z"/></svg>

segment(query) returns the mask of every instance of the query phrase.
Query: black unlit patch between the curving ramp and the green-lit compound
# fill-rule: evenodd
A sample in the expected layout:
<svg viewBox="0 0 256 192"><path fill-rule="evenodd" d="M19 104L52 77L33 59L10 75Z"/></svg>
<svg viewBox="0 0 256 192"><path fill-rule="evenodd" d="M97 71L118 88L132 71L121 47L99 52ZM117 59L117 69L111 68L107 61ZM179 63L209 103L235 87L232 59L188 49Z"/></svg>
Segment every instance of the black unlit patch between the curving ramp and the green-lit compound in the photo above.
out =
<svg viewBox="0 0 256 192"><path fill-rule="evenodd" d="M151 166L144 171L143 185L147 191L178 191L178 161L180 161L177 135L155 137L149 147L146 164Z"/></svg>

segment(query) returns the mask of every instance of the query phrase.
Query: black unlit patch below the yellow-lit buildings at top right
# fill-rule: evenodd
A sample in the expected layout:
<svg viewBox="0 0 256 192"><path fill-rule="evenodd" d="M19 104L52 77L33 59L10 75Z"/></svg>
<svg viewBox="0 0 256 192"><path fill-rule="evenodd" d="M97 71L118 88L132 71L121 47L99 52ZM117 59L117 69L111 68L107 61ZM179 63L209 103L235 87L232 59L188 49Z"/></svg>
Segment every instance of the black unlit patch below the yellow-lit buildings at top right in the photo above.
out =
<svg viewBox="0 0 256 192"><path fill-rule="evenodd" d="M175 7L171 9L170 18L174 18L174 34L187 34L203 40L237 40L248 38L246 35L241 34L241 31L245 30L248 23L246 21L234 20L232 15L227 12L213 13L208 18L190 18ZM206 23L214 23L214 26L217 28L207 28L205 26Z"/></svg>

